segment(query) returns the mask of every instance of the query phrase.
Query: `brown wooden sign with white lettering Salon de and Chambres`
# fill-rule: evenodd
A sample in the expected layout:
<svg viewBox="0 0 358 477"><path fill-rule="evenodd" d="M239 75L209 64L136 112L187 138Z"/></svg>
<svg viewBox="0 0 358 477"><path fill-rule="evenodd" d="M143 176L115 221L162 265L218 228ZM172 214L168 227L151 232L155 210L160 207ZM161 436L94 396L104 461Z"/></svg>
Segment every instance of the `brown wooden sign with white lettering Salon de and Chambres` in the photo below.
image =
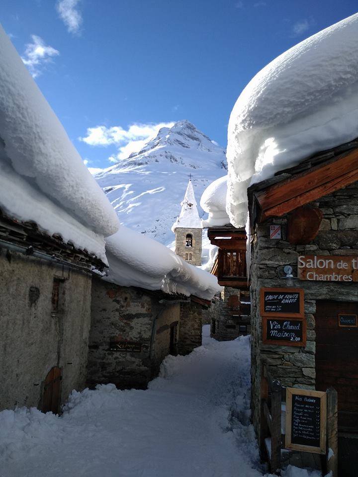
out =
<svg viewBox="0 0 358 477"><path fill-rule="evenodd" d="M358 282L358 255L300 255L297 276L301 280Z"/></svg>

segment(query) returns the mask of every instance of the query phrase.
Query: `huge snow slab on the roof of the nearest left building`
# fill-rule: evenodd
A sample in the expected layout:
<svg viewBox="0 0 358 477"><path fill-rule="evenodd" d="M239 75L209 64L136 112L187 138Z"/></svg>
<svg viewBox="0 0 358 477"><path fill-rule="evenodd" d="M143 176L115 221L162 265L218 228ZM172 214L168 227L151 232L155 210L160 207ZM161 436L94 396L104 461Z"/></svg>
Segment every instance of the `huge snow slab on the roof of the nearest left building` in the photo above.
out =
<svg viewBox="0 0 358 477"><path fill-rule="evenodd" d="M116 214L0 26L0 208L105 261Z"/></svg>

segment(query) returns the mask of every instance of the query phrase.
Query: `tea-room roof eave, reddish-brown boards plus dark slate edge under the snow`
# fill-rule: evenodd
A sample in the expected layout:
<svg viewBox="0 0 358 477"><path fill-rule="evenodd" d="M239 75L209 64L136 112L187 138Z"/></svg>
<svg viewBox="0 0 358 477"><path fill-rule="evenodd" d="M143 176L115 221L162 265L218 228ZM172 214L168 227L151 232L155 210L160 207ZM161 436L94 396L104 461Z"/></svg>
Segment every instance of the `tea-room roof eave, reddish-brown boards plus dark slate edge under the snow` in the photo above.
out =
<svg viewBox="0 0 358 477"><path fill-rule="evenodd" d="M250 224L283 215L358 180L358 140L324 151L248 189Z"/></svg>

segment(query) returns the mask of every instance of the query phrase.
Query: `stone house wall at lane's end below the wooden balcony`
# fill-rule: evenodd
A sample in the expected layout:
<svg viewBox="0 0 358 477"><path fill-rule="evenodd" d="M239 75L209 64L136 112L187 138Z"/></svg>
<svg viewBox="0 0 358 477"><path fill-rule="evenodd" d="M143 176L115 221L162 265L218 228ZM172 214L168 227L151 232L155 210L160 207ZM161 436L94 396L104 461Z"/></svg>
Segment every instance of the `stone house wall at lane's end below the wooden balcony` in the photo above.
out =
<svg viewBox="0 0 358 477"><path fill-rule="evenodd" d="M238 300L247 300L238 288L224 287L220 297L215 299L209 309L210 336L218 341L229 341L241 335L251 333L249 316L243 316L240 310L234 310L229 304L230 297L237 296ZM240 328L240 326L245 326Z"/></svg>

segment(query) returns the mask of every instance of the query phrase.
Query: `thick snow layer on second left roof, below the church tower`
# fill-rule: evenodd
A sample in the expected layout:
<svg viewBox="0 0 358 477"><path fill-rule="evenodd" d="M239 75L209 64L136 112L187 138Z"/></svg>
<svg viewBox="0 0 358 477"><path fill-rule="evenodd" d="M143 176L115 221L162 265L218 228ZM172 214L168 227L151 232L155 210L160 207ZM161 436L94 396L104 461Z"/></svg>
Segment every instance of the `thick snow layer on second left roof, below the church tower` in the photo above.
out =
<svg viewBox="0 0 358 477"><path fill-rule="evenodd" d="M104 279L117 285L206 300L222 289L214 275L189 265L165 245L124 226L106 239L106 255L109 272Z"/></svg>

